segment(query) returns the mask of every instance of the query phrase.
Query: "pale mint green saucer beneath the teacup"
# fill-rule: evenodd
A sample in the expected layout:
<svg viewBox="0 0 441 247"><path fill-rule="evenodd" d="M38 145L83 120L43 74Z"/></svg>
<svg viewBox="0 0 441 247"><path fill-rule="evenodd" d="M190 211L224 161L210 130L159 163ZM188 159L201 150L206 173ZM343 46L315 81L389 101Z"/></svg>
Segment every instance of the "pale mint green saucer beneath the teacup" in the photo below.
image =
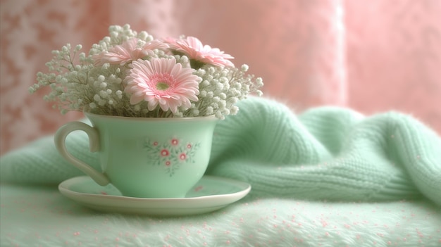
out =
<svg viewBox="0 0 441 247"><path fill-rule="evenodd" d="M251 185L223 177L204 176L185 198L135 198L123 196L111 184L100 186L90 177L73 177L58 185L64 196L92 208L111 213L178 216L209 213L239 201Z"/></svg>

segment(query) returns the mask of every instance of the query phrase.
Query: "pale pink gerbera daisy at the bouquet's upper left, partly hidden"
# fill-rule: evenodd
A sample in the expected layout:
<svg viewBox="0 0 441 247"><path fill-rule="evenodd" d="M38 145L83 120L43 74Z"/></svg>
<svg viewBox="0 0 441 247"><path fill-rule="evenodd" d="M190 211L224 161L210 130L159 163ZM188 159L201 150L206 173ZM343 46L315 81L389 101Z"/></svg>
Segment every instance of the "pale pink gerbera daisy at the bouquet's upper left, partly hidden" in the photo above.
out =
<svg viewBox="0 0 441 247"><path fill-rule="evenodd" d="M95 61L95 65L103 65L104 63L125 65L130 61L144 58L144 56L152 55L154 49L167 49L168 45L158 40L153 40L144 44L144 46L138 46L139 39L132 38L123 44L116 45L103 51L99 54L95 54L92 58Z"/></svg>

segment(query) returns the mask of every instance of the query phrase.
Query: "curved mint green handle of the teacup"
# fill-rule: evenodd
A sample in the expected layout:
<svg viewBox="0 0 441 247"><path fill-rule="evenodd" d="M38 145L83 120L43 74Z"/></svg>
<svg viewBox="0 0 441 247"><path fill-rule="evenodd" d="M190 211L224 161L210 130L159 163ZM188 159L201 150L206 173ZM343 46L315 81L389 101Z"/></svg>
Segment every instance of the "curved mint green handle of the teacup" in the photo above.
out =
<svg viewBox="0 0 441 247"><path fill-rule="evenodd" d="M97 184L101 186L108 184L110 181L104 173L98 172L90 165L87 165L69 153L68 149L66 148L66 137L68 137L70 132L75 130L82 130L86 132L87 136L89 137L89 148L91 152L99 151L99 134L97 129L86 125L84 122L68 122L66 125L60 127L55 134L54 141L58 152L61 154L61 156L66 158L66 160L72 163L72 165L92 177Z"/></svg>

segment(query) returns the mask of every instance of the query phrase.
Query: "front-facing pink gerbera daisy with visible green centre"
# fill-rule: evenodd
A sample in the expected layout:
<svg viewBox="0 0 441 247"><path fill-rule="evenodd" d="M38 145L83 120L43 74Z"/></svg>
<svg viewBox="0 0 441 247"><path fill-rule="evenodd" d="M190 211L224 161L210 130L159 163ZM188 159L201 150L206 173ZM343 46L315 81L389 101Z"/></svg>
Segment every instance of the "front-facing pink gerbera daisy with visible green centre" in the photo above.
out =
<svg viewBox="0 0 441 247"><path fill-rule="evenodd" d="M190 101L197 101L199 77L192 68L182 68L175 58L138 59L130 65L132 69L125 77L126 92L132 94L130 103L147 101L147 108L170 109L176 113L178 107L190 108Z"/></svg>

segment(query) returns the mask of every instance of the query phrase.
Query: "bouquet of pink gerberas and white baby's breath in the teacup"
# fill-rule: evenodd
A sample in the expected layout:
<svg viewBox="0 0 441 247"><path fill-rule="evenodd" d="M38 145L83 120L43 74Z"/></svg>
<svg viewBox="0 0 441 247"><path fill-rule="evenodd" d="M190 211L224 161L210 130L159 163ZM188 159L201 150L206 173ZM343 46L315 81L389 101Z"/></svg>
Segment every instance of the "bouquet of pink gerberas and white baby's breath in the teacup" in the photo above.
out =
<svg viewBox="0 0 441 247"><path fill-rule="evenodd" d="M261 95L260 77L236 68L233 57L195 37L154 39L130 25L109 27L89 54L66 44L53 51L49 73L38 72L35 92L49 86L46 101L66 113L87 111L131 118L173 118L237 113L235 103Z"/></svg>

